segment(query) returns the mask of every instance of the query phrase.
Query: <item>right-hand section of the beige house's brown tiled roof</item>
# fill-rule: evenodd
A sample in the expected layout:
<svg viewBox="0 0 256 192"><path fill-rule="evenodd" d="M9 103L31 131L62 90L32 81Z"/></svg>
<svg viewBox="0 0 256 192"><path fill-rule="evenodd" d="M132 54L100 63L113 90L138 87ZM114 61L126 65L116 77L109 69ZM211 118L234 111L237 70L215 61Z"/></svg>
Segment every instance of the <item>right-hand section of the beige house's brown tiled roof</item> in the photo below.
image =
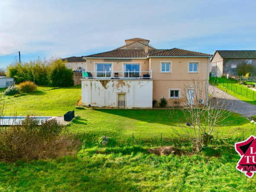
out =
<svg viewBox="0 0 256 192"><path fill-rule="evenodd" d="M188 50L178 49L178 48L163 49L163 51L158 51L158 50L157 52L150 53L149 56L212 56L211 54L205 54L205 53L200 53L196 51L188 51Z"/></svg>

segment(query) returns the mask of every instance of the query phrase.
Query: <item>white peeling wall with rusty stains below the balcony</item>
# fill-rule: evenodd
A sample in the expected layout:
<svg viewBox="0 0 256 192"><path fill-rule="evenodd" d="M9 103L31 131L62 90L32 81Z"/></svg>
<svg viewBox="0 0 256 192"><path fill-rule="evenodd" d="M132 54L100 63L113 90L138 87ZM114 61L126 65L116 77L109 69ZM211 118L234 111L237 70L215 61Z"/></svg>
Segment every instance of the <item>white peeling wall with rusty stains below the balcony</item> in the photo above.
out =
<svg viewBox="0 0 256 192"><path fill-rule="evenodd" d="M118 93L125 94L126 108L152 107L152 80L82 80L82 104L117 107Z"/></svg>

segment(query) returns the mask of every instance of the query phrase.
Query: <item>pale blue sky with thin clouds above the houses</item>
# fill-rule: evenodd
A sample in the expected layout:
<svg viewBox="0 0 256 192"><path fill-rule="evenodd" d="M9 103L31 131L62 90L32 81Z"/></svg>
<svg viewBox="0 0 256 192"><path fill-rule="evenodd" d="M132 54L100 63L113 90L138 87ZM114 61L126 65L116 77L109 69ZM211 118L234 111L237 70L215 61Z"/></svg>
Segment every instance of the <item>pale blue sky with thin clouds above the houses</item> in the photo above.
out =
<svg viewBox="0 0 256 192"><path fill-rule="evenodd" d="M0 0L0 67L145 38L158 49L256 50L255 0ZM7 54L10 56L1 57Z"/></svg>

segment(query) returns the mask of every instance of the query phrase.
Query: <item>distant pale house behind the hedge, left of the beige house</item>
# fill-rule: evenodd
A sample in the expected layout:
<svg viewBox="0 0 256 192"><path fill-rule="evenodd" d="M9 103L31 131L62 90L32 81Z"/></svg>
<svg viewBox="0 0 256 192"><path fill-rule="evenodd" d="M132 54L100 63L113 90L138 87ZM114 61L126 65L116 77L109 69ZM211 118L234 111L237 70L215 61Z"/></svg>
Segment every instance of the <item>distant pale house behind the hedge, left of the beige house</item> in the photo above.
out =
<svg viewBox="0 0 256 192"><path fill-rule="evenodd" d="M69 69L72 69L72 70L86 69L86 59L84 59L83 57L72 56L69 58L64 58L62 59L62 61L67 61L66 66Z"/></svg>

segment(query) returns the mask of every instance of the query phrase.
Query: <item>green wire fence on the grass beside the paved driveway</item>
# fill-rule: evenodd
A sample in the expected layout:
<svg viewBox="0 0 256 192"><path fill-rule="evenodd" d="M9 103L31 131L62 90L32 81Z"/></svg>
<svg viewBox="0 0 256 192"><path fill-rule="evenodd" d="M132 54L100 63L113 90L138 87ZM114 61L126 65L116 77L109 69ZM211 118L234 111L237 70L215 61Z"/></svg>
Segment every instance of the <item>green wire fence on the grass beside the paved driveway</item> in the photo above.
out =
<svg viewBox="0 0 256 192"><path fill-rule="evenodd" d="M252 83L252 82L251 82ZM226 92L232 91L233 93L236 93L238 95L244 96L248 99L252 99L253 101L256 101L256 91L249 89L246 86L239 85L237 83L228 83L227 81L221 79L221 78L214 78L213 84L216 86L221 85L226 89Z"/></svg>

